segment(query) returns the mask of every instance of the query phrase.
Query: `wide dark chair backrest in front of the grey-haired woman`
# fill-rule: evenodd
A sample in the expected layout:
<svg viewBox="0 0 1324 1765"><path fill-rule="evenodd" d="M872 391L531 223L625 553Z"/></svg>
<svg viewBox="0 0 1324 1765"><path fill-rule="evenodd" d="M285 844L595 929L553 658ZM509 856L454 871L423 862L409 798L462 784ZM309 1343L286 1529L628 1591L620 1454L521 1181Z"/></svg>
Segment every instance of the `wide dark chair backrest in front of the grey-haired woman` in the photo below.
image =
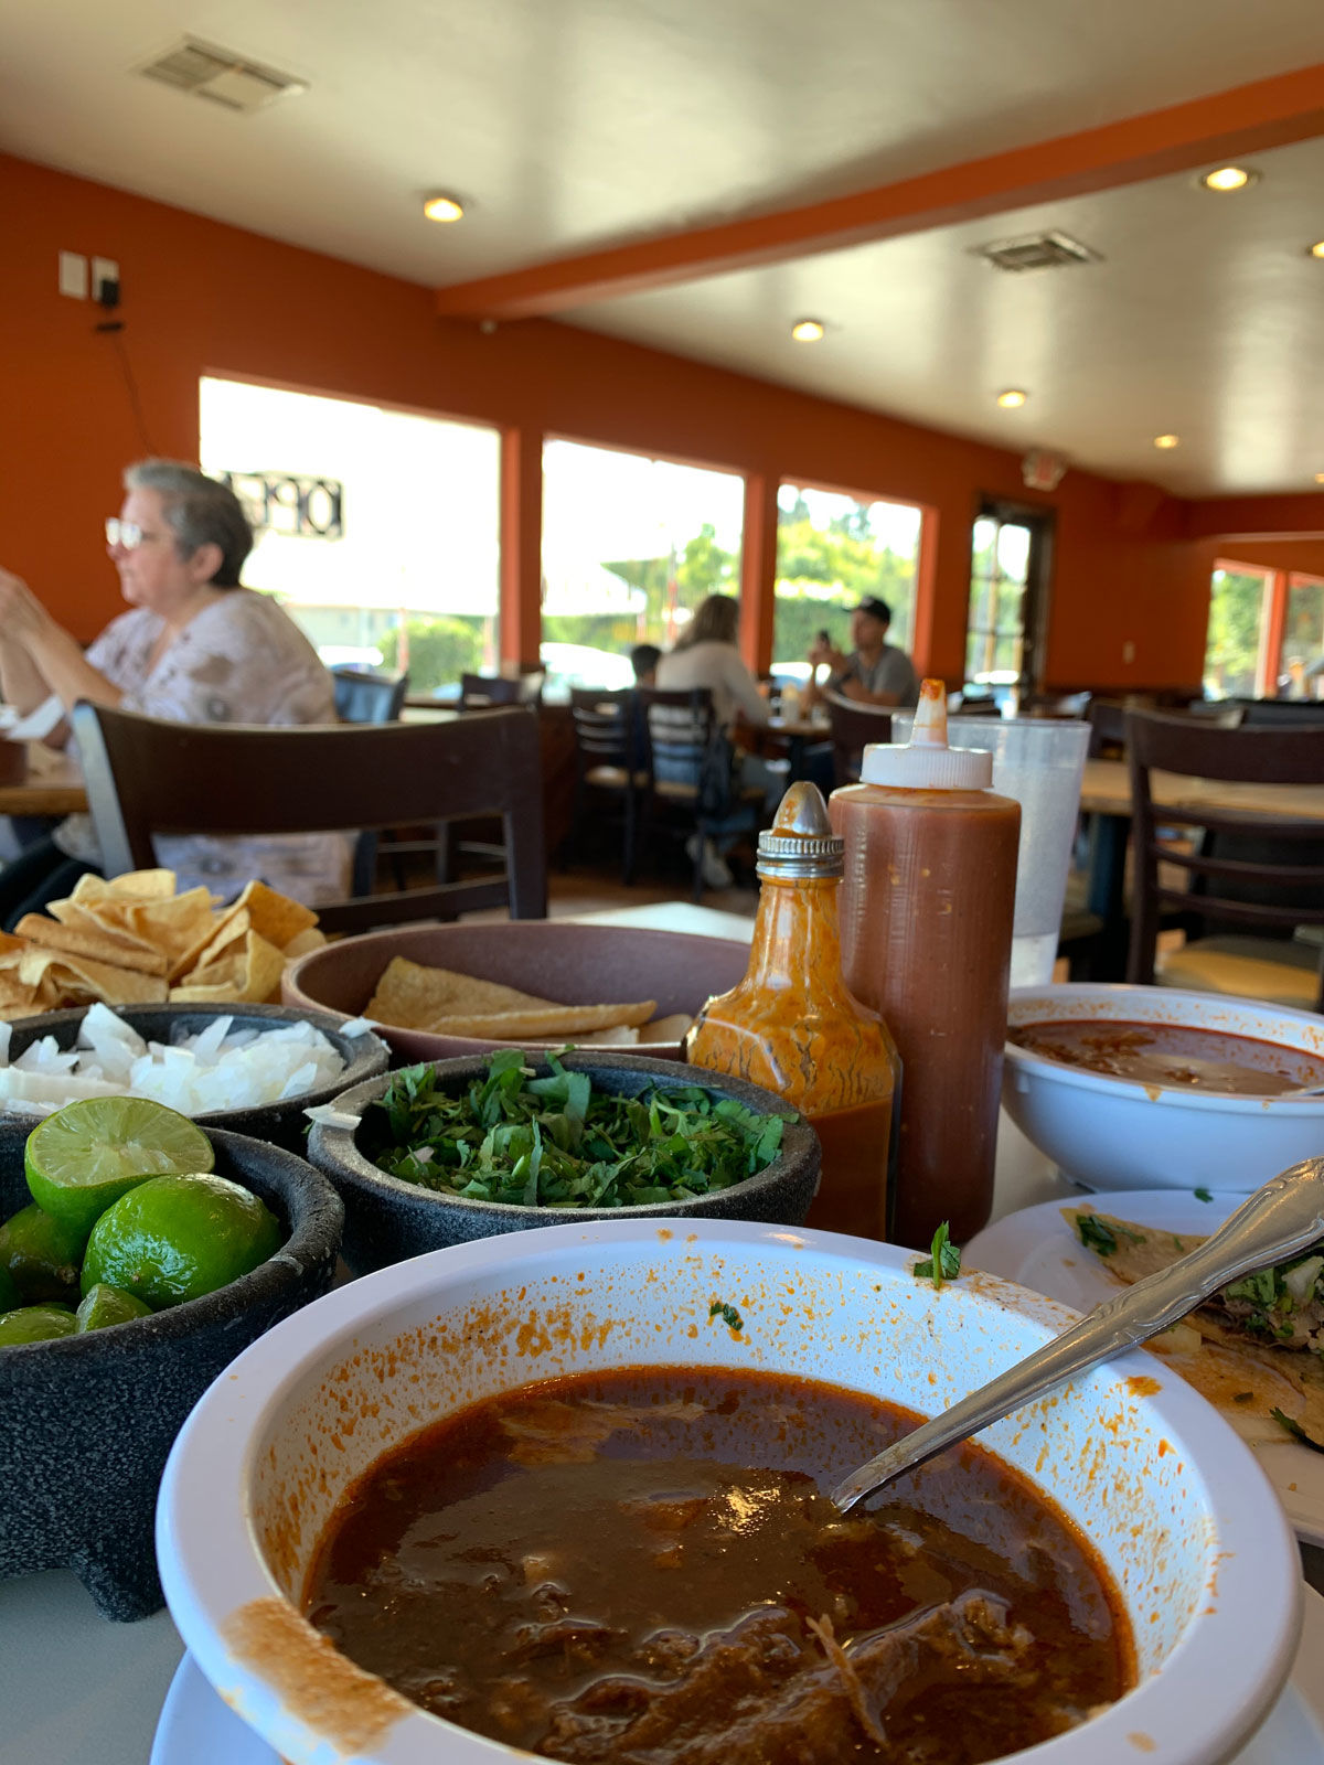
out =
<svg viewBox="0 0 1324 1765"><path fill-rule="evenodd" d="M155 865L157 833L321 833L500 815L503 874L318 905L325 930L510 907L547 913L537 718L427 724L175 724L101 704L72 713L106 874Z"/></svg>

